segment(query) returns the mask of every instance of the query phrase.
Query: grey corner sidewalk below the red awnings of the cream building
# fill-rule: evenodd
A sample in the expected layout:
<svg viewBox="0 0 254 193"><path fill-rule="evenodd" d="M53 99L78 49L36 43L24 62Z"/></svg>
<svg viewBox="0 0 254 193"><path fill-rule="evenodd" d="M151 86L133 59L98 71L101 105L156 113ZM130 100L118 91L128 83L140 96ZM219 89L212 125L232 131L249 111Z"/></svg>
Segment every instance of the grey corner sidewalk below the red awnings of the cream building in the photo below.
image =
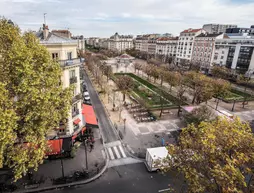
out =
<svg viewBox="0 0 254 193"><path fill-rule="evenodd" d="M89 180L94 179L99 174L101 175L101 172L107 168L108 160L98 131L96 132L96 129L94 129L95 143L91 152L90 147L85 148L81 144L74 158L63 158L65 181L62 180L61 159L45 160L39 166L38 171L33 172L32 179L29 180L26 176L15 183L18 187L16 192L50 189L72 183L88 183ZM88 168L86 168L86 149ZM37 182L37 184L32 181Z"/></svg>

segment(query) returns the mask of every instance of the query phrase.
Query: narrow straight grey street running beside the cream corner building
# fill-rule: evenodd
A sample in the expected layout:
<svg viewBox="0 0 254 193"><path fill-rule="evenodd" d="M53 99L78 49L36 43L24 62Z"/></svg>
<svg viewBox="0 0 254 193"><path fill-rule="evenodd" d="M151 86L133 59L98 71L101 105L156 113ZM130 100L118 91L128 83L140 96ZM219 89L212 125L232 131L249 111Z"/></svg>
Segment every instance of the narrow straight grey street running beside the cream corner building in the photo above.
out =
<svg viewBox="0 0 254 193"><path fill-rule="evenodd" d="M117 141L118 137L114 131L114 128L110 124L110 121L109 121L109 118L106 114L104 106L101 103L99 96L97 95L97 92L93 88L92 83L91 83L86 72L84 72L84 80L87 85L87 90L88 90L90 98L91 98L91 103L93 105L95 114L96 114L98 122L99 122L100 130L101 130L102 135L104 137L104 142L109 143L109 142Z"/></svg>

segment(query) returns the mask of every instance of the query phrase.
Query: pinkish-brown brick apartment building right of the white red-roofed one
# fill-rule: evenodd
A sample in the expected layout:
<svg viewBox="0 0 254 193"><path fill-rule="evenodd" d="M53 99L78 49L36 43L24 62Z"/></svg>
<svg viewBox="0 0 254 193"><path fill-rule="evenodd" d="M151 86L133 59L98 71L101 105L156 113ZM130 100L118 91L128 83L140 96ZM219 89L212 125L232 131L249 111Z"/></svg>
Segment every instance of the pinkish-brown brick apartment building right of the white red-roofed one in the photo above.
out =
<svg viewBox="0 0 254 193"><path fill-rule="evenodd" d="M201 69L209 69L212 66L215 40L228 38L225 34L202 33L195 37L191 62L199 64Z"/></svg>

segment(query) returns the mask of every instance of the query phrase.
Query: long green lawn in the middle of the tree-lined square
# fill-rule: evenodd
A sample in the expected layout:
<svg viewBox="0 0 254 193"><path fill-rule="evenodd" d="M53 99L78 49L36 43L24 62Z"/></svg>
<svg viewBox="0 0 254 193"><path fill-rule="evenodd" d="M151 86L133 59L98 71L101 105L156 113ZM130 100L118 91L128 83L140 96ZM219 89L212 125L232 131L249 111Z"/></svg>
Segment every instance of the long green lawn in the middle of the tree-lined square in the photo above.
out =
<svg viewBox="0 0 254 193"><path fill-rule="evenodd" d="M135 74L132 73L116 73L117 75L128 75L130 77L132 77L134 80L136 80L137 82L135 83L135 86L133 88L133 92L135 92L136 95L138 95L140 98L142 98L146 104L148 106L153 106L153 107L158 107L160 106L160 96L161 95L163 98L165 98L166 100L162 99L163 102L163 107L176 107L178 99L172 95L170 95L169 93L165 92L164 90L158 88L157 86L153 85L152 83L148 82L147 80L136 76ZM154 91L154 94L151 94L152 92L148 92L148 89L146 88L146 90L142 89L140 90L140 86L146 86L147 88L151 89L152 91ZM157 94L155 94L157 93ZM159 95L158 95L159 94ZM135 97L135 96L134 96ZM150 99L149 99L150 98ZM170 102L169 102L170 101ZM185 103L182 103L185 105Z"/></svg>

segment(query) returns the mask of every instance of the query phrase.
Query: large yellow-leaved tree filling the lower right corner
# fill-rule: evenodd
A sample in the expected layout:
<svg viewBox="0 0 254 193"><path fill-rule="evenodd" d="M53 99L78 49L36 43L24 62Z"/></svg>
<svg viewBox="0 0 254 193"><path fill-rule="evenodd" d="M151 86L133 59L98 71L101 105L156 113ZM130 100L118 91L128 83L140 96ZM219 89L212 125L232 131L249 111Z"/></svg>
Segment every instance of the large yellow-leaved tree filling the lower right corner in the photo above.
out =
<svg viewBox="0 0 254 193"><path fill-rule="evenodd" d="M189 192L253 192L254 136L240 119L190 124L165 161L188 183Z"/></svg>

